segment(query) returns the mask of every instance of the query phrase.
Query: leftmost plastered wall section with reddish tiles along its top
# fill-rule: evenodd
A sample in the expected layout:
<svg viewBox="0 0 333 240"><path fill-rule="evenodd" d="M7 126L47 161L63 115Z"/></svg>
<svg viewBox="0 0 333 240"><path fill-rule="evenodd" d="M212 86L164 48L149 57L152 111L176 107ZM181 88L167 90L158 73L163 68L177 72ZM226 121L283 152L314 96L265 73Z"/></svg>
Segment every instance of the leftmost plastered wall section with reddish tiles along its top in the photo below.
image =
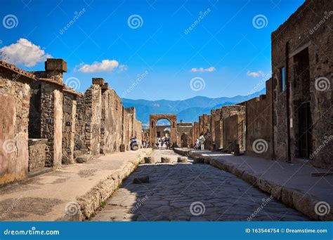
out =
<svg viewBox="0 0 333 240"><path fill-rule="evenodd" d="M0 61L0 185L27 178L33 74Z"/></svg>

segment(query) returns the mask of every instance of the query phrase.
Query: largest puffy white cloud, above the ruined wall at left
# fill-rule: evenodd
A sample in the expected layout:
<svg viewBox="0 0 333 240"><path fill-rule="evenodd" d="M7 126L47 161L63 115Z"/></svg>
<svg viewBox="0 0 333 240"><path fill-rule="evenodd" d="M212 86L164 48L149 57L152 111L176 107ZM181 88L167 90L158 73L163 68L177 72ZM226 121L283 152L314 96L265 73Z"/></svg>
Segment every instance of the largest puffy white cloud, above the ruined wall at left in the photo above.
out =
<svg viewBox="0 0 333 240"><path fill-rule="evenodd" d="M4 46L0 51L6 56L6 61L26 67L34 67L37 63L44 62L46 58L52 58L40 46L32 44L27 39L18 39L15 44Z"/></svg>

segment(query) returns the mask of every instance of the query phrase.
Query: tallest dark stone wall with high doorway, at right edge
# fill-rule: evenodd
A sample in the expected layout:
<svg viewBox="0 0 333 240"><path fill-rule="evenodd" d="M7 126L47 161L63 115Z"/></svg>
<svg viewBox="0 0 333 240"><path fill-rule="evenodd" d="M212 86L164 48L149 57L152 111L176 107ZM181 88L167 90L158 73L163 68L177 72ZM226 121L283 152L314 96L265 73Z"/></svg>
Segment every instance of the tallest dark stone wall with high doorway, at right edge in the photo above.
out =
<svg viewBox="0 0 333 240"><path fill-rule="evenodd" d="M331 1L306 1L272 33L274 154L280 161L333 166L333 145L327 142L333 135L332 15ZM302 130L307 125L308 140Z"/></svg>

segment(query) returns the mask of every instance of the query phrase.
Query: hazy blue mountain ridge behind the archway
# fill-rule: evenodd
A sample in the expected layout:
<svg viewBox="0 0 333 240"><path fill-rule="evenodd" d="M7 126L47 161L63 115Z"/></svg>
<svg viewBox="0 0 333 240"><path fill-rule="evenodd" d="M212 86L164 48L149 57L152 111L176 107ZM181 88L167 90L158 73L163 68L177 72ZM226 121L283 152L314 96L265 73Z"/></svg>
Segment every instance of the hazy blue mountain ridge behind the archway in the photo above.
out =
<svg viewBox="0 0 333 240"><path fill-rule="evenodd" d="M124 107L136 107L136 118L147 124L150 114L177 114L178 121L187 122L198 121L198 117L202 114L210 114L211 109L216 109L225 105L234 105L239 102L244 102L251 98L256 98L259 95L265 94L266 89L253 93L251 95L237 95L233 98L207 98L197 96L186 100L133 100L123 98Z"/></svg>

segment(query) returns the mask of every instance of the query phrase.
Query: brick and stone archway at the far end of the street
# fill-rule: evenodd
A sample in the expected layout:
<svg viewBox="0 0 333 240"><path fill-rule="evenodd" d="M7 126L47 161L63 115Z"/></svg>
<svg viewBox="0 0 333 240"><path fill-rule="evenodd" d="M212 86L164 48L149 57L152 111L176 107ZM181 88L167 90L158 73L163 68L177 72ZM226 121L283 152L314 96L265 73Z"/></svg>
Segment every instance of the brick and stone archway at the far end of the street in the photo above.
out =
<svg viewBox="0 0 333 240"><path fill-rule="evenodd" d="M149 140L150 146L155 145L157 137L156 123L159 119L166 119L170 122L171 145L177 144L177 115L176 114L150 114Z"/></svg>

